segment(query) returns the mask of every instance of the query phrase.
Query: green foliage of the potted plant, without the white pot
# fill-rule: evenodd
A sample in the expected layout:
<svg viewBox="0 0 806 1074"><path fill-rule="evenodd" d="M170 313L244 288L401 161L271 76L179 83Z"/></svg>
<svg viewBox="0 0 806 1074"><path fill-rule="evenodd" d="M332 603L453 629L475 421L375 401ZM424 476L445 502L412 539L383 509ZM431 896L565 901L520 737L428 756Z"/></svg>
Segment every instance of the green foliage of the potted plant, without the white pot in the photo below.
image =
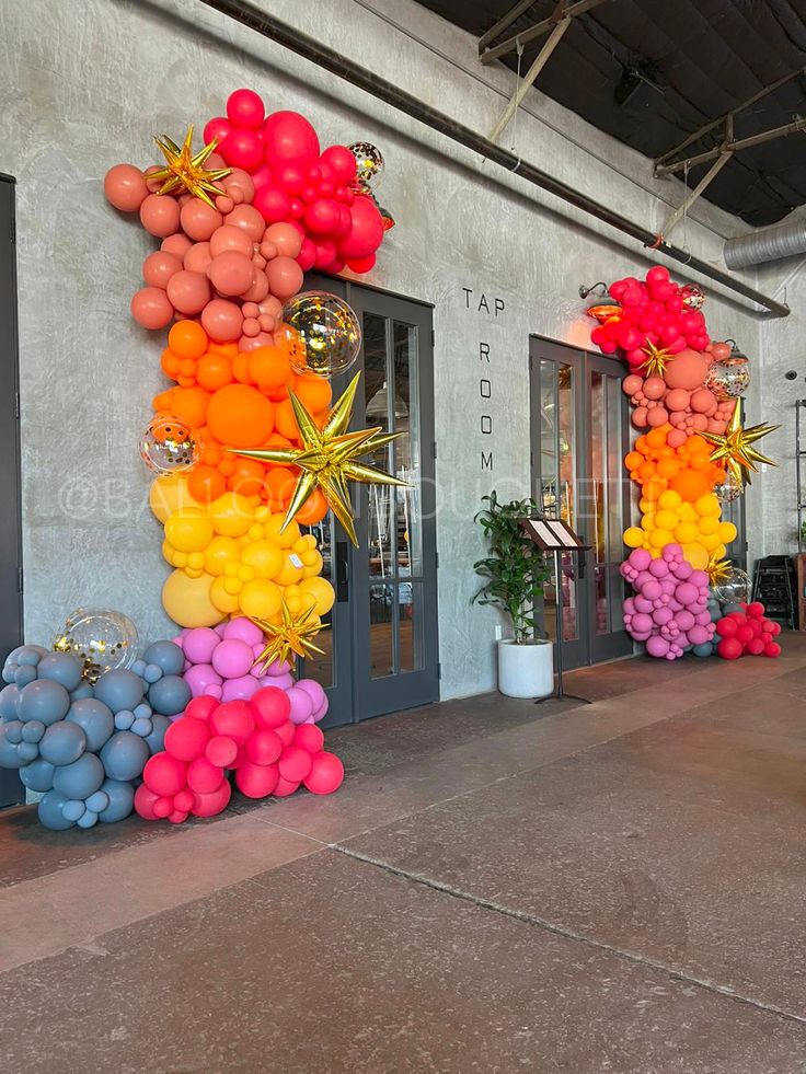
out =
<svg viewBox="0 0 806 1074"><path fill-rule="evenodd" d="M534 603L543 594L551 571L545 554L518 526L518 519L540 513L533 499L499 504L495 489L483 496L487 506L475 516L490 542L490 555L473 564L485 582L473 603L495 604L511 619L516 643L536 636Z"/></svg>

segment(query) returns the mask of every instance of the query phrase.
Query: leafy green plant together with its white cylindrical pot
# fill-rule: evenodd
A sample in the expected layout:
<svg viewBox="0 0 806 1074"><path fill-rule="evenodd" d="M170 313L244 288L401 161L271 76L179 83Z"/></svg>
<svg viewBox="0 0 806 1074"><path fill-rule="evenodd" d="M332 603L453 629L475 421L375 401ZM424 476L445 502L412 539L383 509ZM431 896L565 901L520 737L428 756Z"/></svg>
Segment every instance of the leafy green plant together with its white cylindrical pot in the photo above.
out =
<svg viewBox="0 0 806 1074"><path fill-rule="evenodd" d="M509 616L513 637L498 642L498 690L507 697L548 697L554 689L553 646L537 636L534 603L550 577L545 555L518 519L539 513L533 499L498 503L493 490L475 516L490 542L490 555L473 564L485 582L473 603L495 604Z"/></svg>

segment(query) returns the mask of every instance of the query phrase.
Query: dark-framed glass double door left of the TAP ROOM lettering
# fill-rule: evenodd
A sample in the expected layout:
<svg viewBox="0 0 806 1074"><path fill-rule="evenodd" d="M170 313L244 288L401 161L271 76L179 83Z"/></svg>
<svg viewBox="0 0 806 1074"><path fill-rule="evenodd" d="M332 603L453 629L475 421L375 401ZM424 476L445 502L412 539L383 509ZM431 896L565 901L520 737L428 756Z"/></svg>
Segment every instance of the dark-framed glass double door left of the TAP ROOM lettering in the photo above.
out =
<svg viewBox="0 0 806 1074"><path fill-rule="evenodd" d="M315 638L324 655L300 671L325 688L333 727L439 696L431 311L345 280L306 285L355 310L361 354L333 397L361 372L350 428L400 434L361 461L407 483L353 486L357 548L332 513L312 529L336 602Z"/></svg>

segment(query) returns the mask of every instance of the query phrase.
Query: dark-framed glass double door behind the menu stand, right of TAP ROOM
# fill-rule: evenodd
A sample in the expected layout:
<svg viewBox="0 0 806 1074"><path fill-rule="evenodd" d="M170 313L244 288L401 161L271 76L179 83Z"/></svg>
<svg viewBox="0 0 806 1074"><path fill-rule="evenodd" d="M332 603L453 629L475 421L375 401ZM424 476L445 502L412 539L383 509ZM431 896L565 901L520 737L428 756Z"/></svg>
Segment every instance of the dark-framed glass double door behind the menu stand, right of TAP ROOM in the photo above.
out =
<svg viewBox="0 0 806 1074"><path fill-rule="evenodd" d="M630 482L622 460L629 443L623 366L604 356L538 337L530 339L532 496L549 518L562 518L588 552L561 557L543 599L549 637L561 603L564 667L632 653L624 630L622 533Z"/></svg>

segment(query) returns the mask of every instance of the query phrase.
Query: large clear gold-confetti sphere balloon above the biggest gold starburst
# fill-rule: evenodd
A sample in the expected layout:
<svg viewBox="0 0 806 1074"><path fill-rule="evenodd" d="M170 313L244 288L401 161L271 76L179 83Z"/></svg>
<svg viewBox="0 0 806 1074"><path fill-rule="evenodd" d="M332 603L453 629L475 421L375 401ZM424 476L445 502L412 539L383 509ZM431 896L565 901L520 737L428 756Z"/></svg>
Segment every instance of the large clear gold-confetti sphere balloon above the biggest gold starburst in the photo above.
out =
<svg viewBox="0 0 806 1074"><path fill-rule="evenodd" d="M348 369L361 347L361 326L347 303L327 291L302 291L283 307L275 342L299 373L330 377Z"/></svg>

